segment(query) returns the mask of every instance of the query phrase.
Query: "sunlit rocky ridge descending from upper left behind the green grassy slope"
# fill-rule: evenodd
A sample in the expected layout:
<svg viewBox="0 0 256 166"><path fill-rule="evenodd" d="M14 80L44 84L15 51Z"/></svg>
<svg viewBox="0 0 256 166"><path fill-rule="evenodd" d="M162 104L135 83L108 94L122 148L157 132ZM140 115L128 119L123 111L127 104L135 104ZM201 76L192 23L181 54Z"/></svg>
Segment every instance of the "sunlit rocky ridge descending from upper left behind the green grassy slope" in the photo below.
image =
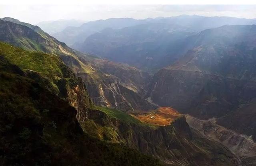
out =
<svg viewBox="0 0 256 166"><path fill-rule="evenodd" d="M24 34L24 36L26 37L24 38L24 36L22 36L21 38L18 38L18 42L16 42L17 37L12 37L12 34L15 34L16 32L19 33L19 31L16 31L17 29L15 28L27 29L28 27L26 25L25 27L22 27L23 25L11 23L9 21L2 21L1 23L1 25L3 26L2 30L4 30L2 31L2 37L6 37L6 33L10 34L8 35L8 38L3 38L1 40L9 43L14 43L16 46L22 46L23 48L32 51L44 51L46 53L53 53L59 56L62 61L73 70L73 72L75 72L80 77L82 77L82 79L84 79L84 82L88 87L88 92L92 99L95 99L94 102L96 104L105 105L108 107L116 107L118 109L130 111L133 111L135 109L148 110L151 108L155 108L154 105L144 100L142 98L142 94L140 94L140 92L144 93L142 86L144 77L142 77L142 72L140 70L129 66L124 67L123 64L115 64L110 61L98 59L91 55L84 55L76 50L71 49L65 43L58 41L47 33L44 33L42 30L40 30L40 33L36 33L34 31L31 31L33 29L28 29L28 31L32 33L32 36L26 36L26 34ZM7 25L9 24L13 25L14 27L12 27L9 31L6 31L5 29L6 27L8 27ZM29 26L33 28L33 25ZM37 37L38 39L40 39L40 41L34 43L35 41L32 40L33 37ZM21 41L19 41L20 39ZM25 43L25 45L23 40L33 42L32 44L31 42L28 42L28 44ZM31 45L39 45L40 47L32 47L31 49ZM41 49L41 47L43 49ZM131 75L131 79L133 73L135 73L135 78L138 78L136 79L138 81L134 82L132 80L124 79L122 78L122 74L110 71L108 67L104 66L113 66L114 68L116 68L116 71L124 71L125 69L128 75ZM122 92L117 91L113 84L116 84L118 87L122 87ZM134 91L133 89L135 89L136 91ZM102 90L104 93L102 93ZM135 96L138 102L141 102L140 105L142 105L142 107L138 107L138 104L136 104L136 101L132 99L132 96ZM118 102L120 102L120 105L115 104L115 98L116 100L118 100Z"/></svg>

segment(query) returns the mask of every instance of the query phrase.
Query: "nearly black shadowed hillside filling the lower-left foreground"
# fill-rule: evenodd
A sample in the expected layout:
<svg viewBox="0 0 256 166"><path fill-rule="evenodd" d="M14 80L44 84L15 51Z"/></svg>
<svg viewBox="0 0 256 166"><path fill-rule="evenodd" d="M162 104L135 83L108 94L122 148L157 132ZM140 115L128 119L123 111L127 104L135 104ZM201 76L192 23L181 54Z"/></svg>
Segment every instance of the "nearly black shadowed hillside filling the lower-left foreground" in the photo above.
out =
<svg viewBox="0 0 256 166"><path fill-rule="evenodd" d="M136 150L84 134L76 109L0 56L0 163L157 166Z"/></svg>

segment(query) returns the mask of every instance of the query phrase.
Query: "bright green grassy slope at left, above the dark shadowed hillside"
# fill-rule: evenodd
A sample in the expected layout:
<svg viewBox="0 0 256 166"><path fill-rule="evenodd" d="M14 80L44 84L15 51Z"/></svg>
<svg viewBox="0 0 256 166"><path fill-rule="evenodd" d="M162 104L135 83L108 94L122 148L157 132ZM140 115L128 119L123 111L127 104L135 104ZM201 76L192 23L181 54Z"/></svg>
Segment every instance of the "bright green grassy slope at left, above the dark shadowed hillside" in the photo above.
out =
<svg viewBox="0 0 256 166"><path fill-rule="evenodd" d="M42 86L58 94L58 80L68 79L74 74L56 55L50 55L42 52L30 52L19 47L0 42L0 56L4 56L12 64L17 65L23 71L36 73L34 78Z"/></svg>

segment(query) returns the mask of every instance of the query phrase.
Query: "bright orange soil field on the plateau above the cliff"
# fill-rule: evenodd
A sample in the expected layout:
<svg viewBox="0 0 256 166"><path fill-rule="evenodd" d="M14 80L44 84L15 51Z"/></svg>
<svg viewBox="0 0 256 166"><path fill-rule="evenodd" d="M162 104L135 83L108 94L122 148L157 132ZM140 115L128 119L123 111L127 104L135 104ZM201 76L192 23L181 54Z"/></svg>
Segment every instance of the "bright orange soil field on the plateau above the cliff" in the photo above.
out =
<svg viewBox="0 0 256 166"><path fill-rule="evenodd" d="M143 115L132 115L136 119L150 123L153 125L165 126L170 125L170 123L176 119L177 117L181 116L178 111L171 107L159 107L155 111L150 113L144 113Z"/></svg>

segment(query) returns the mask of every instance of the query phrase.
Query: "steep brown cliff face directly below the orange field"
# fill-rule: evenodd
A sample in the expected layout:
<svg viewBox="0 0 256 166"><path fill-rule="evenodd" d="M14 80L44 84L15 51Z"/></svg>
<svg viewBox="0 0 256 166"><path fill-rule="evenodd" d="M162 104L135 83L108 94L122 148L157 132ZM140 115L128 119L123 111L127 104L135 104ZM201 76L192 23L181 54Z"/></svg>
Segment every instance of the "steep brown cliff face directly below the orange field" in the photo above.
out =
<svg viewBox="0 0 256 166"><path fill-rule="evenodd" d="M119 117L124 119L123 116ZM166 126L152 126L135 120L125 121L101 111L89 111L88 119L88 122L82 123L86 133L151 154L169 166L240 164L238 158L220 143L210 141L191 130L184 116ZM95 133L97 130L98 133Z"/></svg>

